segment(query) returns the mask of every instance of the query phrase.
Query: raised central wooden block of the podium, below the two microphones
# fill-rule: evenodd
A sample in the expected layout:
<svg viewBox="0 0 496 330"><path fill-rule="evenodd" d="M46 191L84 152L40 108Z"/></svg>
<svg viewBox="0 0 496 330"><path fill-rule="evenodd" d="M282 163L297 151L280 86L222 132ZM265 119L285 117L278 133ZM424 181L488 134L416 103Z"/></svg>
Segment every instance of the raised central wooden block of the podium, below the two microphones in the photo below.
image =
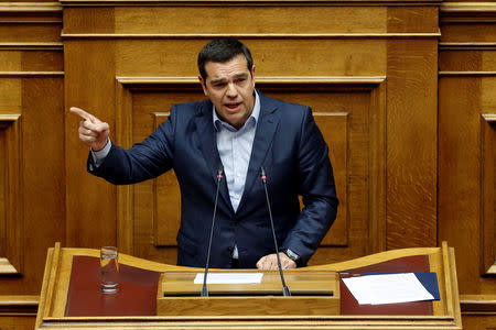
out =
<svg viewBox="0 0 496 330"><path fill-rule="evenodd" d="M211 270L216 273L241 271ZM277 271L244 270L262 273L260 284L209 284L208 297L198 297L202 284L194 284L198 271L165 271L158 289L159 316L259 316L259 315L338 315L339 279L334 271L284 271L291 296L282 296L281 277Z"/></svg>

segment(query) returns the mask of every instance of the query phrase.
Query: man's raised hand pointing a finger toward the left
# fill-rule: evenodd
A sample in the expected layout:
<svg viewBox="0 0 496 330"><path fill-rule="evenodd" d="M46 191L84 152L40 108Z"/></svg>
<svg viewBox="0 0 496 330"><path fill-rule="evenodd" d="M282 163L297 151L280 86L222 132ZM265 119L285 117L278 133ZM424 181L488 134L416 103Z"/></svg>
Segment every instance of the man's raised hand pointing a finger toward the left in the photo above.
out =
<svg viewBox="0 0 496 330"><path fill-rule="evenodd" d="M69 111L84 119L79 122L79 140L93 151L103 150L110 134L108 123L76 107L72 107Z"/></svg>

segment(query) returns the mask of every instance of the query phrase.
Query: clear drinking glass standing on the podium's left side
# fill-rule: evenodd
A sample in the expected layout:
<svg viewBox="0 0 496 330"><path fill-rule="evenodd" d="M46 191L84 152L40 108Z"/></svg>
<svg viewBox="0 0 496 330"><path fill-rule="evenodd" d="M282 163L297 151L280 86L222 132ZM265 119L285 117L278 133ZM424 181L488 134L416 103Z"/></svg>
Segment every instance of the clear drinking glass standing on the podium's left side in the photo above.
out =
<svg viewBox="0 0 496 330"><path fill-rule="evenodd" d="M116 246L100 249L100 287L104 294L119 289L119 254Z"/></svg>

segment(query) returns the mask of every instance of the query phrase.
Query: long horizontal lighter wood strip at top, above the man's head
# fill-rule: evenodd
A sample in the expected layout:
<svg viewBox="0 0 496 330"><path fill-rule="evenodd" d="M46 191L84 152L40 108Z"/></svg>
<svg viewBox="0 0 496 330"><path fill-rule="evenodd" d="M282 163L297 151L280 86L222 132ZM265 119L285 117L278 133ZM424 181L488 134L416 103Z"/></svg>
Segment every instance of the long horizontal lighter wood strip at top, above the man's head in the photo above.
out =
<svg viewBox="0 0 496 330"><path fill-rule="evenodd" d="M116 33L224 34L299 34L304 33L380 33L386 32L385 7L216 7L116 8ZM191 18L202 18L191 20ZM298 24L281 24L298 16ZM276 19L277 18L277 19ZM430 19L429 16L425 16ZM188 24L184 24L188 21ZM133 24L129 24L133 22ZM154 22L150 26L150 22ZM206 24L204 22L212 22ZM236 24L233 24L236 22Z"/></svg>

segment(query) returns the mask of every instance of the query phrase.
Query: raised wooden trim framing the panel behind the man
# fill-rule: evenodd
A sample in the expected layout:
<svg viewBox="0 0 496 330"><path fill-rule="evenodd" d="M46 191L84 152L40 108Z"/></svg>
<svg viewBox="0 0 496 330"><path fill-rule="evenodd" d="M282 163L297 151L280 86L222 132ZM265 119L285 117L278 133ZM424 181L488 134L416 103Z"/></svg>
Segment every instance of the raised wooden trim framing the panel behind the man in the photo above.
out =
<svg viewBox="0 0 496 330"><path fill-rule="evenodd" d="M263 90L363 90L370 92L370 169L369 169L369 253L386 249L386 77L385 76L311 76L257 77ZM132 134L132 91L201 91L196 77L116 77L117 143L129 147ZM118 187L118 244L132 251L133 188Z"/></svg>

